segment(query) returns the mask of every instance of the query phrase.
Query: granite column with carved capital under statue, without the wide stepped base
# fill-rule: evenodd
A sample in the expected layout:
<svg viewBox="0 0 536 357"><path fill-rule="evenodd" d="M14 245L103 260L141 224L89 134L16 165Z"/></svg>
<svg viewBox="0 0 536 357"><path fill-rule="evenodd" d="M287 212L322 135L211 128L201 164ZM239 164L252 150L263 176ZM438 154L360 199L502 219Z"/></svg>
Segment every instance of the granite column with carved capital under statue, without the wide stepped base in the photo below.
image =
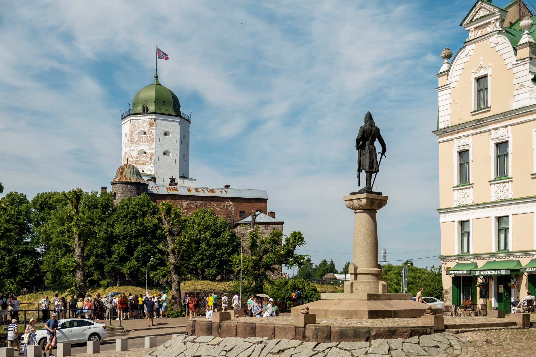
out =
<svg viewBox="0 0 536 357"><path fill-rule="evenodd" d="M353 262L349 264L350 280L344 282L345 294L385 294L387 283L378 266L378 229L376 211L387 204L388 196L360 193L344 197L346 207L353 210Z"/></svg>

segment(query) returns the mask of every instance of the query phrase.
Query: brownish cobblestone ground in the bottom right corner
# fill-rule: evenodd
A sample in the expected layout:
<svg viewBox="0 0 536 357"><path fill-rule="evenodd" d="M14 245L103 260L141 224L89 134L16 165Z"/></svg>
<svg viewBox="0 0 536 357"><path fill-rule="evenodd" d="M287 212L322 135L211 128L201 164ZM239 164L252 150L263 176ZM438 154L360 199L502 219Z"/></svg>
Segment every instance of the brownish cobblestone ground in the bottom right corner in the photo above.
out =
<svg viewBox="0 0 536 357"><path fill-rule="evenodd" d="M471 342L474 356L527 356L536 348L536 329L465 332L457 336Z"/></svg>

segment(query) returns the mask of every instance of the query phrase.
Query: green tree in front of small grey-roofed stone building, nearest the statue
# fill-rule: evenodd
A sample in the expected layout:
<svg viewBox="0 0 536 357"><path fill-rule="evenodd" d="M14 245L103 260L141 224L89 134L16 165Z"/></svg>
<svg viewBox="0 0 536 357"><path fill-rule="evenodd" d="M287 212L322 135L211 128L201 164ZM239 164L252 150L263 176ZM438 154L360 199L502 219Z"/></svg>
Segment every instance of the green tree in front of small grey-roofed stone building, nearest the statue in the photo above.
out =
<svg viewBox="0 0 536 357"><path fill-rule="evenodd" d="M305 244L305 238L299 231L285 237L279 230L273 230L268 237L261 238L259 226L248 234L250 254L243 255L242 276L247 281L247 293L263 291L265 282L269 279L267 272L275 274L282 265L301 268L307 255L295 254L294 250ZM233 256L235 271L240 271L240 254Z"/></svg>

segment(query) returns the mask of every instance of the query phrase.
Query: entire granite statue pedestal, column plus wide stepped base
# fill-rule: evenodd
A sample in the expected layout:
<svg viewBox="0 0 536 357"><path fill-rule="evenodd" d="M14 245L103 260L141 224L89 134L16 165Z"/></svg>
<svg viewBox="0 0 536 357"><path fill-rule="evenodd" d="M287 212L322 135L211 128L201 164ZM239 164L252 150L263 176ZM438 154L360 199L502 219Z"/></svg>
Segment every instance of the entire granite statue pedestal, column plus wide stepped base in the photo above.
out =
<svg viewBox="0 0 536 357"><path fill-rule="evenodd" d="M350 280L344 283L344 294L321 294L321 300L308 303L310 314L333 318L420 317L429 305L411 300L411 294L389 294L378 265L378 230L376 212L387 204L388 196L355 193L344 197L346 207L354 211L353 263L349 264ZM303 306L293 307L291 316ZM433 307L434 315L442 315ZM435 318L435 317L433 317ZM312 326L312 325L310 325ZM306 332L307 335L307 332Z"/></svg>

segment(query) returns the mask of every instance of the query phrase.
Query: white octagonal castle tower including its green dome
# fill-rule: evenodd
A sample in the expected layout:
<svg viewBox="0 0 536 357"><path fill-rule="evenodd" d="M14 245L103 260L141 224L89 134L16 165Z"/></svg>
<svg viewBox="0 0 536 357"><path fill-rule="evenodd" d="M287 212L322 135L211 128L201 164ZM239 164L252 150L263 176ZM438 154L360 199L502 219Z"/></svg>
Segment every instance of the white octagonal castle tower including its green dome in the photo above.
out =
<svg viewBox="0 0 536 357"><path fill-rule="evenodd" d="M132 109L121 115L121 162L135 165L145 179L157 185L195 186L190 178L190 117L171 90L158 82L148 85L132 99Z"/></svg>

